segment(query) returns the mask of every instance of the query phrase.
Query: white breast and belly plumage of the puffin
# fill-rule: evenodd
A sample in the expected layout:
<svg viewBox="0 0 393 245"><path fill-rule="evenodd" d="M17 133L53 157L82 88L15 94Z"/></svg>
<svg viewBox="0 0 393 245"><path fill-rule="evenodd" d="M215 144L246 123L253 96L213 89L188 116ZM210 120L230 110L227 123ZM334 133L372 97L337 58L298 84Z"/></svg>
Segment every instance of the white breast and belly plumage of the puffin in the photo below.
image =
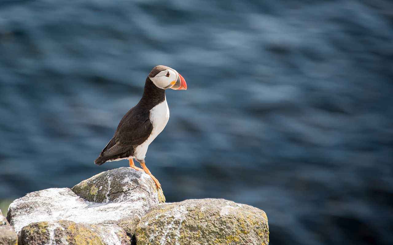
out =
<svg viewBox="0 0 393 245"><path fill-rule="evenodd" d="M134 158L137 160L144 160L147 152L147 148L150 143L157 137L160 132L163 131L167 122L169 120L169 108L167 104L167 99L165 98L163 102L159 103L150 110L150 121L153 125L153 130L143 144L135 148Z"/></svg>

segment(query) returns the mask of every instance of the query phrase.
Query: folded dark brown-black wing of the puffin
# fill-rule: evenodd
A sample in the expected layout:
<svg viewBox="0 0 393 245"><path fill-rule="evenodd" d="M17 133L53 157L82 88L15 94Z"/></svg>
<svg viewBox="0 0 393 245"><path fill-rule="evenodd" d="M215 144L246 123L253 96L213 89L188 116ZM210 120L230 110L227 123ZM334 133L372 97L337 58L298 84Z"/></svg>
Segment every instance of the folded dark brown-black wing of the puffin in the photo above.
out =
<svg viewBox="0 0 393 245"><path fill-rule="evenodd" d="M131 109L121 119L115 135L103 149L100 156L118 155L145 142L153 130L149 116L149 111L146 113L135 113Z"/></svg>

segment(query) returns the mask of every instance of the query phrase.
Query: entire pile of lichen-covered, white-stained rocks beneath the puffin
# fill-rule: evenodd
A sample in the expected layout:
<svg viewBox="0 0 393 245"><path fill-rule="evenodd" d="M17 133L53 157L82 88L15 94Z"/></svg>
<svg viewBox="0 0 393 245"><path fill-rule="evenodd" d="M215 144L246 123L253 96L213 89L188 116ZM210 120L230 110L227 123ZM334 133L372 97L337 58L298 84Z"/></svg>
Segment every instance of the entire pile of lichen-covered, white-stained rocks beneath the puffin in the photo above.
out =
<svg viewBox="0 0 393 245"><path fill-rule="evenodd" d="M19 245L268 244L268 220L260 209L224 199L163 201L147 174L109 170L71 189L13 201L9 223L0 217L0 245L15 245L16 234Z"/></svg>

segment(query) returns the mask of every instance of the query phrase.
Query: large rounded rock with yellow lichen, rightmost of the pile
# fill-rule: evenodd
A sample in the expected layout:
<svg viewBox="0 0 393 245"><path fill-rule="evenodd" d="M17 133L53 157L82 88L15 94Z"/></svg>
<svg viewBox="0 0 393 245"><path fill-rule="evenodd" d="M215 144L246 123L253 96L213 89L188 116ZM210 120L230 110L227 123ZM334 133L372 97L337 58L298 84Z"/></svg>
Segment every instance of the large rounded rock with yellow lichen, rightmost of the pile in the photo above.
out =
<svg viewBox="0 0 393 245"><path fill-rule="evenodd" d="M158 204L136 229L138 245L268 245L265 212L224 199Z"/></svg>

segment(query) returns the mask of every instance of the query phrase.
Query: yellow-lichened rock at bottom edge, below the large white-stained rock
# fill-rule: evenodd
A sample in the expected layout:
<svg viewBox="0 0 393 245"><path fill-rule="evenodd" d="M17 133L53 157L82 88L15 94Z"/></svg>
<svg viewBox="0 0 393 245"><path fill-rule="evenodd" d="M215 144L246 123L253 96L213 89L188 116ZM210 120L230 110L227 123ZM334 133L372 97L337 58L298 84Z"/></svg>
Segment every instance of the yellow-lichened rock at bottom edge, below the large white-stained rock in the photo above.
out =
<svg viewBox="0 0 393 245"><path fill-rule="evenodd" d="M20 231L19 245L129 245L117 225L87 225L68 220L31 223Z"/></svg>

